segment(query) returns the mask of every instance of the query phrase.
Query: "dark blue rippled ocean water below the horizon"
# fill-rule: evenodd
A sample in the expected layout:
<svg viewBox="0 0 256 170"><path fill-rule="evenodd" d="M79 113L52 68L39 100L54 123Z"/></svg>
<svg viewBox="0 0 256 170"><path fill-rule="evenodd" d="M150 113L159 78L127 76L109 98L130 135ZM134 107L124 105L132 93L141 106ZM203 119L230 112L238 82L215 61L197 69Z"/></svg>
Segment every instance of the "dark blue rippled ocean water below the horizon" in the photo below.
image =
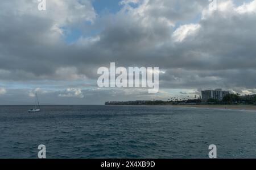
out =
<svg viewBox="0 0 256 170"><path fill-rule="evenodd" d="M172 106L0 106L0 158L256 157L256 112Z"/></svg>

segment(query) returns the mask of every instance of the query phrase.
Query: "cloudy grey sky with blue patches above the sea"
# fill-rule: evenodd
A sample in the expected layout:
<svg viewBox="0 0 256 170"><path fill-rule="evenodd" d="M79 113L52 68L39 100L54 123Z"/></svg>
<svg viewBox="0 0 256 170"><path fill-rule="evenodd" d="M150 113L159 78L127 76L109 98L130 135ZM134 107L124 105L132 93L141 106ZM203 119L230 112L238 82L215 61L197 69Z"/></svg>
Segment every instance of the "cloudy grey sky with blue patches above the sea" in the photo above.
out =
<svg viewBox="0 0 256 170"><path fill-rule="evenodd" d="M0 1L0 105L256 93L256 0ZM99 88L97 69L159 67L159 93Z"/></svg>

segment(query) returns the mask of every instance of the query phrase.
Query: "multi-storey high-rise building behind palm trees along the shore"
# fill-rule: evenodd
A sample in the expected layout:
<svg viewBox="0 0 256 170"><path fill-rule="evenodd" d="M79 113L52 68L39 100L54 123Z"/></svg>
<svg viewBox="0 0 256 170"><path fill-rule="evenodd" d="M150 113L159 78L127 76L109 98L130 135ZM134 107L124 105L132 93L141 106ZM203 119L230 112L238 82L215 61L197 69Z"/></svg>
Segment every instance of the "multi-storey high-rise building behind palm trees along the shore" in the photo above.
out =
<svg viewBox="0 0 256 170"><path fill-rule="evenodd" d="M222 89L216 90L202 90L202 101L207 102L208 99L216 99L217 101L222 101L223 97L230 94L227 91L222 91Z"/></svg>

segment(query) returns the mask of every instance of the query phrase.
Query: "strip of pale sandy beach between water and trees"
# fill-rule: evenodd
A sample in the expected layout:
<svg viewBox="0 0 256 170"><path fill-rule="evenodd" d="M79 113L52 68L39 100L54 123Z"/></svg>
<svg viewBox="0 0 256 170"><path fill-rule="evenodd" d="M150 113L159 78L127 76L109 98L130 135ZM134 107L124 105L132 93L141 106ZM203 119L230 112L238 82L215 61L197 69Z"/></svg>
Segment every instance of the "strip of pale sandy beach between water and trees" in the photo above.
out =
<svg viewBox="0 0 256 170"><path fill-rule="evenodd" d="M174 107L194 107L205 109L232 109L256 111L256 105L172 105Z"/></svg>

